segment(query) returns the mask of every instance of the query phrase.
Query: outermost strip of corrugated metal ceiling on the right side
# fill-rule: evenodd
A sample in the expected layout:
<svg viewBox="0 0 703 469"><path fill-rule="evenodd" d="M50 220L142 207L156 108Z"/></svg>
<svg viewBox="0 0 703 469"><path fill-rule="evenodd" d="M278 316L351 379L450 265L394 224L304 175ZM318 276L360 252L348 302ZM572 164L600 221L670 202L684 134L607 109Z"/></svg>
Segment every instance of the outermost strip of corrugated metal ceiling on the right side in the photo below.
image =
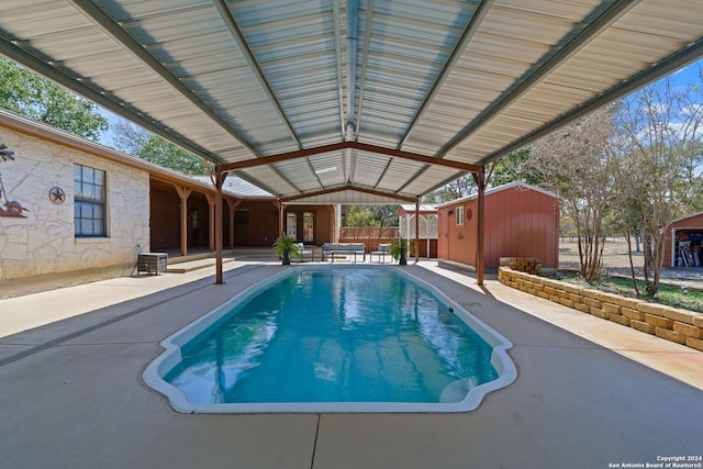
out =
<svg viewBox="0 0 703 469"><path fill-rule="evenodd" d="M666 19L669 12L678 9L665 1L644 3L634 4L628 10L629 14L613 21L612 27L585 42L580 54L572 54L542 81L535 82L520 100L506 107L490 123L466 138L460 145L461 150L466 152L465 158L480 161L481 154L495 155L509 148L509 134L494 129L511 126L512 115L525 115L531 109L539 110L534 113L538 119L532 123L523 122L513 126L518 133L529 134L540 124L549 122L549 119L596 99L603 89L617 87L631 77L633 68L646 69L680 49L683 44L679 32L670 31L668 37L662 35L662 25L670 26L672 23L657 21L659 18ZM652 9L652 3L658 3L660 8ZM651 12L656 13L652 15ZM677 14L678 12L674 13ZM699 19L703 19L700 7L696 14ZM633 18L636 18L637 26L633 24ZM657 26L647 27L647 23ZM691 31L694 29L690 26L691 23L683 21L680 24L684 31L689 30L688 36L691 37ZM695 27L700 35L703 30L700 24ZM613 63L621 65L613 67Z"/></svg>

